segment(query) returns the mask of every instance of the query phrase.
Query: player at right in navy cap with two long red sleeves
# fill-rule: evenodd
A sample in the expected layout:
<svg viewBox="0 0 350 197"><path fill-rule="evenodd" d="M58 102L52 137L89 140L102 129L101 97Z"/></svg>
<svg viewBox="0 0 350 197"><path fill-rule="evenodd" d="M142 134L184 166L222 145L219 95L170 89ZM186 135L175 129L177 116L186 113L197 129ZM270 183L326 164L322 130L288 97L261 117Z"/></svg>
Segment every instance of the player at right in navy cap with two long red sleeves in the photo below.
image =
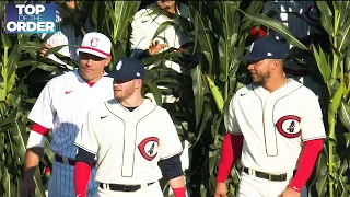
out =
<svg viewBox="0 0 350 197"><path fill-rule="evenodd" d="M214 196L226 196L225 179L240 157L237 196L296 197L308 179L326 137L316 95L283 74L288 50L271 36L252 44L253 83L240 89L229 108Z"/></svg>

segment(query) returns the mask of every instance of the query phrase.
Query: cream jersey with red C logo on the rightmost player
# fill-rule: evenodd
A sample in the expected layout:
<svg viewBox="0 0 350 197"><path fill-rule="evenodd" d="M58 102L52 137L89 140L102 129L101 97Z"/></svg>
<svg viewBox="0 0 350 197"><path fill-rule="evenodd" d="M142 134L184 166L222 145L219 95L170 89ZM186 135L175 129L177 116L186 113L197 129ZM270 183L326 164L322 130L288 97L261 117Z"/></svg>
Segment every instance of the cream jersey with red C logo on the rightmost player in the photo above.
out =
<svg viewBox="0 0 350 197"><path fill-rule="evenodd" d="M256 171L293 171L303 142L326 137L317 97L292 79L272 93L252 84L240 89L229 116L228 130L245 139L242 164Z"/></svg>

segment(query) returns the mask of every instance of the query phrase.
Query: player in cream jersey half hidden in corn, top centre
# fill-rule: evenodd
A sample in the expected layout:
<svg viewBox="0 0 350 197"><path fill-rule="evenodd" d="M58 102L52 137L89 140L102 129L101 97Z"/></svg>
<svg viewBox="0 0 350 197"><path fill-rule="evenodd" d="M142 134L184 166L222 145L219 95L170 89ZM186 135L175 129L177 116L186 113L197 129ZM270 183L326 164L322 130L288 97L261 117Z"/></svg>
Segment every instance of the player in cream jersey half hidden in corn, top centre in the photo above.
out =
<svg viewBox="0 0 350 197"><path fill-rule="evenodd" d="M131 27L131 49L133 57L142 59L147 56L153 56L158 53L165 51L173 47L182 50L182 48L191 44L190 36L179 26L170 25L159 35L155 35L159 26L166 22L172 22L174 16L178 14L189 20L189 9L187 5L174 0L158 0L155 3L148 5L145 9L138 11L132 20ZM170 76L184 73L185 69L177 62L172 60L163 60L162 66L171 68L174 72L168 72ZM154 68L150 65L147 69ZM166 86L160 85L160 89L166 90ZM147 97L153 97L152 94L147 94ZM174 103L178 100L175 95L162 95L163 103Z"/></svg>

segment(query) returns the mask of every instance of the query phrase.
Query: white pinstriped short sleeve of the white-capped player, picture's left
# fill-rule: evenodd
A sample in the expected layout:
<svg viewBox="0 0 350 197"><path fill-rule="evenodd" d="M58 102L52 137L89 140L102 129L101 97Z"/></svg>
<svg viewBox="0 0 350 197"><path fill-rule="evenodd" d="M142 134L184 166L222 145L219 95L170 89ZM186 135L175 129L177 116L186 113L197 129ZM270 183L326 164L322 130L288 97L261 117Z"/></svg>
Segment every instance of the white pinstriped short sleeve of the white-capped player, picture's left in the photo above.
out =
<svg viewBox="0 0 350 197"><path fill-rule="evenodd" d="M52 128L56 109L52 106L52 81L49 81L37 97L28 119L45 128Z"/></svg>

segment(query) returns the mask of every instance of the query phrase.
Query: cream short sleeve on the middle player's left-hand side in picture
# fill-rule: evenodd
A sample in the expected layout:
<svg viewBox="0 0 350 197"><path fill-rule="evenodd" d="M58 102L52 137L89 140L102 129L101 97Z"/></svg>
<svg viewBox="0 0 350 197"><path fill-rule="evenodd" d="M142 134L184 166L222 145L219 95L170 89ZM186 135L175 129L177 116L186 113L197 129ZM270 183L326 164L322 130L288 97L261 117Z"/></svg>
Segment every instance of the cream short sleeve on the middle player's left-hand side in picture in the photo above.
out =
<svg viewBox="0 0 350 197"><path fill-rule="evenodd" d="M93 111L88 113L88 118L83 123L82 129L79 130L74 144L90 153L97 154L98 139L95 135Z"/></svg>

